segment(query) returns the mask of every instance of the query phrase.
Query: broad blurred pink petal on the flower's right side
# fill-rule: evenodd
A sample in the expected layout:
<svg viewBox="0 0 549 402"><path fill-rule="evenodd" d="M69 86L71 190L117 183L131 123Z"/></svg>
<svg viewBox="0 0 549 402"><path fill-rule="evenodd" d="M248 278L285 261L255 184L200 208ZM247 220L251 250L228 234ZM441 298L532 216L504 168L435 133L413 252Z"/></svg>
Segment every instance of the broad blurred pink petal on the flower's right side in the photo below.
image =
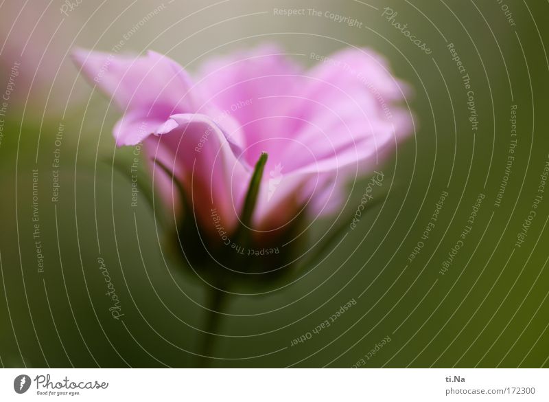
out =
<svg viewBox="0 0 549 402"><path fill-rule="evenodd" d="M395 104L404 100L406 88L393 78L384 60L358 49L346 49L330 59L334 63L314 67L301 80L298 105L288 100L291 109L286 115L299 124L281 145L288 179L296 175L303 180L295 191L301 192L301 200L312 197L316 210L319 205L329 207L323 213L342 201L342 185L332 192L327 183L336 177L344 183L376 168L412 127L410 113Z"/></svg>

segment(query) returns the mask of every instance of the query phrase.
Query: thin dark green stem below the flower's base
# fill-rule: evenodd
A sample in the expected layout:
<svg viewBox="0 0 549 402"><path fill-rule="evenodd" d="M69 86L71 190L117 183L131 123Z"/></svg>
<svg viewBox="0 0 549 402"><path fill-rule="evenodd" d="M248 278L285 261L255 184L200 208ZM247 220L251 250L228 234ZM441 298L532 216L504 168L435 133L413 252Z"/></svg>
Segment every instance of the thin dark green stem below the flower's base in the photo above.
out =
<svg viewBox="0 0 549 402"><path fill-rule="evenodd" d="M226 293L217 287L209 289L209 300L205 316L205 333L200 337L200 348L198 348L198 367L206 368L211 363L211 352L215 344L216 333L220 327L222 315L221 309L226 300Z"/></svg>

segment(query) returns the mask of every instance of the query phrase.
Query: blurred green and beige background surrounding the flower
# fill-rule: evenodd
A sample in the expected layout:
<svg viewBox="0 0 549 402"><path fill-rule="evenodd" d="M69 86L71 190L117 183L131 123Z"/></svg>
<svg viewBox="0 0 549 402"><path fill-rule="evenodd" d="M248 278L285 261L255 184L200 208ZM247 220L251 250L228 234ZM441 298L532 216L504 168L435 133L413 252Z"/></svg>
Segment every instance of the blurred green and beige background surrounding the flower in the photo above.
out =
<svg viewBox="0 0 549 402"><path fill-rule="evenodd" d="M431 54L382 16L386 7ZM362 26L277 16L273 8L331 11ZM300 280L233 298L210 366L549 366L549 188L537 191L549 161L548 14L546 1L518 0L3 1L0 92L12 91L0 116L1 365L196 365L205 287L163 252L147 204L129 207L130 182L109 162L132 157L111 135L119 112L69 57L74 47L108 52L122 41L121 53L154 49L191 72L208 57L266 42L305 66L315 63L312 52L370 47L413 89L407 106L416 131L379 167L386 175L375 193L380 202ZM449 43L471 79L476 131ZM506 170L513 105L517 146ZM59 198L52 202L57 148ZM349 186L345 214L357 208L368 179ZM443 192L439 219L423 240ZM479 193L485 198L471 233L443 274ZM537 214L518 247L537 194ZM310 241L332 223L316 222ZM98 258L121 301L121 320L108 311ZM312 333L352 299L329 328Z"/></svg>

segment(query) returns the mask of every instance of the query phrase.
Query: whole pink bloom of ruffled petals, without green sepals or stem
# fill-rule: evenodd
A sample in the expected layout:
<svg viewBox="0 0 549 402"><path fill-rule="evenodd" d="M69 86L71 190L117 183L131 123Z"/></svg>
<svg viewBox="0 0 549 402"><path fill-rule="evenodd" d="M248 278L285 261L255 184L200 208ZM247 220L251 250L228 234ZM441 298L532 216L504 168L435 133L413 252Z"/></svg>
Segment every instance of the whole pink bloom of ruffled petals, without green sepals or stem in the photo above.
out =
<svg viewBox="0 0 549 402"><path fill-rule="evenodd" d="M194 78L155 52L73 56L124 113L117 145L143 142L169 166L205 233L235 230L261 152L268 162L253 228L272 231L305 210L339 208L344 185L411 131L410 113L397 104L404 86L366 49L344 49L305 70L276 47L259 47L211 60ZM161 180L178 205L171 178Z"/></svg>

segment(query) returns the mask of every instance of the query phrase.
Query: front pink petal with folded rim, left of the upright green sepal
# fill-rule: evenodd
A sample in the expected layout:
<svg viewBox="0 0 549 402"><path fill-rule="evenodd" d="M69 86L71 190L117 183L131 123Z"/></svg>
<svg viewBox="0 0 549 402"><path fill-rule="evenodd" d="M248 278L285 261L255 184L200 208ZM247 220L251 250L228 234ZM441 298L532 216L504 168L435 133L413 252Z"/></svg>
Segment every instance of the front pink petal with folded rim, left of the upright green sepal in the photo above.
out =
<svg viewBox="0 0 549 402"><path fill-rule="evenodd" d="M172 115L169 126L171 129L159 136L149 137L149 152L154 157L162 155L163 164L175 169L200 227L215 233L211 216L215 210L230 233L240 215L250 172L233 153L226 134L208 116Z"/></svg>

